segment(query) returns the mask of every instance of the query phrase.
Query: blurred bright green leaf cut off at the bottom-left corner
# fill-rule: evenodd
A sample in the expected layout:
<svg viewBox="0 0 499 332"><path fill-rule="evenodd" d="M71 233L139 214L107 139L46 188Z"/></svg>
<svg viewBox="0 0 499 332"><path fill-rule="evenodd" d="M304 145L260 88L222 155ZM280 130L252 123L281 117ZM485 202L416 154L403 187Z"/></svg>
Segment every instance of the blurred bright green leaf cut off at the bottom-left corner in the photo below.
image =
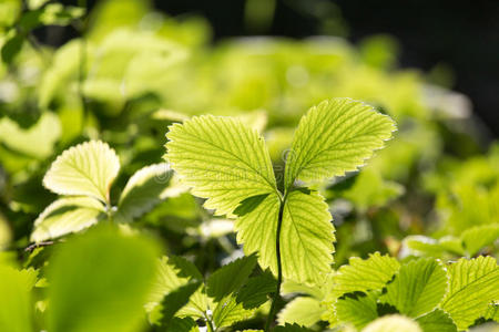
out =
<svg viewBox="0 0 499 332"><path fill-rule="evenodd" d="M31 289L37 282L37 271L19 271L0 263L0 331L34 331Z"/></svg>

